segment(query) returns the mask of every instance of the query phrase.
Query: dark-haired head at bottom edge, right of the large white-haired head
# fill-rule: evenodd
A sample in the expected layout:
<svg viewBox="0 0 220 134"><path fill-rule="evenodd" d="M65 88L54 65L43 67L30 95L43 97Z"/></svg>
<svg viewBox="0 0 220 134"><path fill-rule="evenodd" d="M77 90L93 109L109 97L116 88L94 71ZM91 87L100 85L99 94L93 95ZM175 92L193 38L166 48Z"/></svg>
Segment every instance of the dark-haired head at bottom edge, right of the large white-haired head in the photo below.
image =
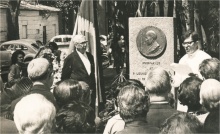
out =
<svg viewBox="0 0 220 134"><path fill-rule="evenodd" d="M95 114L89 105L72 101L58 111L56 131L58 133L94 133L94 120Z"/></svg>

